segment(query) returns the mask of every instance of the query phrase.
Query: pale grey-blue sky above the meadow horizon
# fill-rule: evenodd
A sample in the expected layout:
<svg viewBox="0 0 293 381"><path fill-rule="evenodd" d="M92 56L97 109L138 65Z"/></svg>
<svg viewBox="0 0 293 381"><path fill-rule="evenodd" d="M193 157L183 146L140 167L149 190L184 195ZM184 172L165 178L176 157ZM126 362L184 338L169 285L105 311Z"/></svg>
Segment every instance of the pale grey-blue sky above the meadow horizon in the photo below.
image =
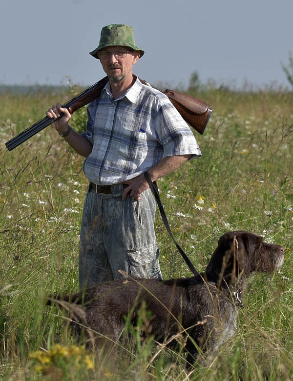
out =
<svg viewBox="0 0 293 381"><path fill-rule="evenodd" d="M133 27L151 83L200 80L289 85L293 0L0 0L0 83L90 85L105 76L88 52L111 23Z"/></svg>

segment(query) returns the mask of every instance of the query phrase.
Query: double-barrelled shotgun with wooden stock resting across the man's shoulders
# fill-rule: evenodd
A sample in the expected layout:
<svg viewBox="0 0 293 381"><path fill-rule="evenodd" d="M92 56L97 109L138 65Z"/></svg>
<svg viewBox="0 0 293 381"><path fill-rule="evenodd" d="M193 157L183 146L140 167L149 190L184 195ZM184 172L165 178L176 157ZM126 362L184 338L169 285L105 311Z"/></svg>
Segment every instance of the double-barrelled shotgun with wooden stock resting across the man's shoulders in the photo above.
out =
<svg viewBox="0 0 293 381"><path fill-rule="evenodd" d="M140 81L148 86L150 84L144 80ZM63 104L63 108L67 108L70 114L73 114L76 110L90 103L92 100L99 98L103 88L108 82L108 77L104 77L92 86L85 89L82 93L78 94L76 97L68 100L68 102ZM211 114L211 109L202 100L197 100L190 97L189 95L179 93L173 90L165 90L164 94L167 95L171 103L176 107L178 112L181 114L182 118L190 124L197 132L201 135L204 133L205 128L208 124L209 117ZM61 118L63 114L60 114ZM49 124L53 123L56 119L49 117L44 117L37 121L26 130L22 131L20 134L6 141L5 145L9 151L18 147L24 141L30 139L32 136L36 135L38 132L42 131Z"/></svg>

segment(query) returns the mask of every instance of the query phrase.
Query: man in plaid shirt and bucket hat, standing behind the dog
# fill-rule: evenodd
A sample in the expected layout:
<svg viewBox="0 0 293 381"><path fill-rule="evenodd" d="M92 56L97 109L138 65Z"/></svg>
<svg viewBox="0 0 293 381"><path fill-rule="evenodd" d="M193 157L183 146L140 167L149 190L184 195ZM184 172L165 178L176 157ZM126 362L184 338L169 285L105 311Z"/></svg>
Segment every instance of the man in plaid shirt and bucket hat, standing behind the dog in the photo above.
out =
<svg viewBox="0 0 293 381"><path fill-rule="evenodd" d="M80 288L119 279L119 270L162 279L156 205L144 172L157 180L201 152L167 96L132 74L144 51L129 25L103 27L99 46L90 54L101 61L109 82L88 105L86 132L69 126L71 115L61 103L46 112L54 119L64 114L55 129L86 158L90 183L81 226Z"/></svg>

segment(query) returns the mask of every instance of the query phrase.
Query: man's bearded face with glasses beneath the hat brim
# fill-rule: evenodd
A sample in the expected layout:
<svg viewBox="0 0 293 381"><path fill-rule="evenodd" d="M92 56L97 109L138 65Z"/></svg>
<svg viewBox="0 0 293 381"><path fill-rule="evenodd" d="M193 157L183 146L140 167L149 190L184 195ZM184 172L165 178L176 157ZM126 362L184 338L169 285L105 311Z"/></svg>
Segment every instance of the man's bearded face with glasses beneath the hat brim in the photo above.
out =
<svg viewBox="0 0 293 381"><path fill-rule="evenodd" d="M109 80L119 82L128 77L132 80L132 66L139 59L139 52L127 46L107 46L99 52L99 58Z"/></svg>

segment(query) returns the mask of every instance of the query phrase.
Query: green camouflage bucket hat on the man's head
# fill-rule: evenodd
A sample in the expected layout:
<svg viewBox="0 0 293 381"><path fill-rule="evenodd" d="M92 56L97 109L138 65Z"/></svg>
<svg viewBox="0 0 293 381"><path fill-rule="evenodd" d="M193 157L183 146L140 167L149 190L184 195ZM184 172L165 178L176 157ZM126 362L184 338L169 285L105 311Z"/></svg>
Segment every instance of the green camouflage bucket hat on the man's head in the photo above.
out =
<svg viewBox="0 0 293 381"><path fill-rule="evenodd" d="M111 24L104 26L101 31L101 38L99 46L93 51L89 52L93 57L98 57L98 51L106 46L129 46L133 50L140 52L140 57L143 57L145 51L135 45L133 29L130 25L126 24Z"/></svg>

